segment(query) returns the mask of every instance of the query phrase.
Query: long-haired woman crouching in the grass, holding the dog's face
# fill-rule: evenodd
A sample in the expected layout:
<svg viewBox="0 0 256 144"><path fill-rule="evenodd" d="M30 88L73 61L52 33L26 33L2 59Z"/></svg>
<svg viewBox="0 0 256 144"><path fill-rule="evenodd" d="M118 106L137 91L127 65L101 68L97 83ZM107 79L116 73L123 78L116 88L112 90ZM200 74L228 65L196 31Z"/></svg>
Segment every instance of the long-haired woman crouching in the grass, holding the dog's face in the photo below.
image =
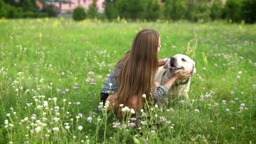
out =
<svg viewBox="0 0 256 144"><path fill-rule="evenodd" d="M131 50L115 65L101 92L101 101L109 101L110 109L116 111L123 104L140 110L146 99L158 101L178 79L189 77L189 71L177 73L165 85L155 82L158 67L167 59L158 61L161 38L154 29L143 29L133 39ZM146 99L142 97L146 94Z"/></svg>

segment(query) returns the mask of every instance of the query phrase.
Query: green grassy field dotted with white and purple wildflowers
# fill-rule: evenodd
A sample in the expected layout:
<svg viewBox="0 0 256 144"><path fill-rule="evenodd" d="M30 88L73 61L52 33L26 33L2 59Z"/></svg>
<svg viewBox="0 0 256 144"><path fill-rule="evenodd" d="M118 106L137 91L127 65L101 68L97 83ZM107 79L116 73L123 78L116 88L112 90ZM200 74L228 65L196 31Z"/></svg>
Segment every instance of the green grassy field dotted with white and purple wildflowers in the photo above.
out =
<svg viewBox="0 0 256 144"><path fill-rule="evenodd" d="M189 98L118 120L100 103L135 34L196 62ZM0 143L256 143L256 25L0 20Z"/></svg>

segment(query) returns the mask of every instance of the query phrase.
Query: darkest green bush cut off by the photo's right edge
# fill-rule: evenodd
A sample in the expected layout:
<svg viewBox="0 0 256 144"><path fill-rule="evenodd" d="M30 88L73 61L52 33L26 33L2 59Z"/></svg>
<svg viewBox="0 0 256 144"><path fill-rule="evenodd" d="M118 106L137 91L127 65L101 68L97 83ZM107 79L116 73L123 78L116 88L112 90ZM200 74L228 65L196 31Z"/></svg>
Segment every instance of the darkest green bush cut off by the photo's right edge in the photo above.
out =
<svg viewBox="0 0 256 144"><path fill-rule="evenodd" d="M241 19L245 22L253 23L256 21L256 1L243 0L241 4Z"/></svg>

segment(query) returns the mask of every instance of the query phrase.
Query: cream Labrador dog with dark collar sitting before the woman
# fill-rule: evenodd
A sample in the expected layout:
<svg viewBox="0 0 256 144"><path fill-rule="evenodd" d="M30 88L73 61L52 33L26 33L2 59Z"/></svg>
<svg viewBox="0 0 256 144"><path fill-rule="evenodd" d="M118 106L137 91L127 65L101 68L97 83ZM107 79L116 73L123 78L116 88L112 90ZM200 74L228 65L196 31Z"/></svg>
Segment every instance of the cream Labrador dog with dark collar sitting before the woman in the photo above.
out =
<svg viewBox="0 0 256 144"><path fill-rule="evenodd" d="M174 74L184 70L190 71L189 79L177 80L168 91L168 94L166 95L167 100L172 100L181 96L188 98L191 76L196 73L195 62L186 55L177 54L171 57L164 66L158 68L155 82L159 82L161 85L165 85ZM163 100L160 100L160 103L163 102Z"/></svg>

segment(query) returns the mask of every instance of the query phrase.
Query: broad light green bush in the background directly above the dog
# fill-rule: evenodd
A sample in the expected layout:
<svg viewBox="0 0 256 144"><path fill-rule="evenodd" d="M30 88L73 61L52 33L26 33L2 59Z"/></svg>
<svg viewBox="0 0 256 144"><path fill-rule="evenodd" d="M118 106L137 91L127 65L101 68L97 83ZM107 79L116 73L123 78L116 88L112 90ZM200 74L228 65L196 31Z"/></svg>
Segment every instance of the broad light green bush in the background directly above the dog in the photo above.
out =
<svg viewBox="0 0 256 144"><path fill-rule="evenodd" d="M166 19L180 20L185 17L187 7L184 0L166 0L164 16Z"/></svg>

